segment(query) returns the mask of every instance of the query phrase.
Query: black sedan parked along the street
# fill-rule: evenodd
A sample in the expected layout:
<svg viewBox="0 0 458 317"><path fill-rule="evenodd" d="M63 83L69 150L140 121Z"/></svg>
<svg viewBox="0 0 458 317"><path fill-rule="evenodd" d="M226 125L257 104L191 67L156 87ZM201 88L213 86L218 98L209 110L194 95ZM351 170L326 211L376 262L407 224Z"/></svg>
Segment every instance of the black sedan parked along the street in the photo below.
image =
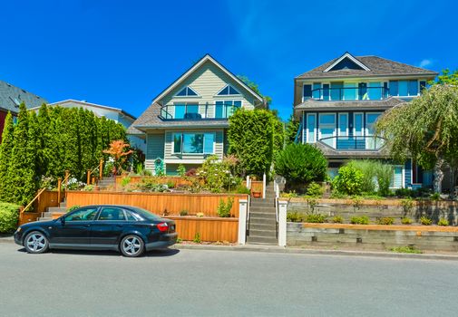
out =
<svg viewBox="0 0 458 317"><path fill-rule="evenodd" d="M176 241L172 220L139 207L116 205L81 207L55 220L25 224L15 232L15 243L31 254L48 249L95 249L134 257Z"/></svg>

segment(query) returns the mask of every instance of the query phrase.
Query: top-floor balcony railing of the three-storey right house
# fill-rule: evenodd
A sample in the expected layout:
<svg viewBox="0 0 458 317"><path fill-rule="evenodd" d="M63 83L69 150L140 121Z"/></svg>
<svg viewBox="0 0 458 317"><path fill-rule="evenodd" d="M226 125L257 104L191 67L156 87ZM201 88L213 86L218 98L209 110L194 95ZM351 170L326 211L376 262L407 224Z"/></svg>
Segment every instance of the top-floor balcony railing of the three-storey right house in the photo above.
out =
<svg viewBox="0 0 458 317"><path fill-rule="evenodd" d="M389 97L386 87L317 88L312 99L320 101L379 101Z"/></svg>

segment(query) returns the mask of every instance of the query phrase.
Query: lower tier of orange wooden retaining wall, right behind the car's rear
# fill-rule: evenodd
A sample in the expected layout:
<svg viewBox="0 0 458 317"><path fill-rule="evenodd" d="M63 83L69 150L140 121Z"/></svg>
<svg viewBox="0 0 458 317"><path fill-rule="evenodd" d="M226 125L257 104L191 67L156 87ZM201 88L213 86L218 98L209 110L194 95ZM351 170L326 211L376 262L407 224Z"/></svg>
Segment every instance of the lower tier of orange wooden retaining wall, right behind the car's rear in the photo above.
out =
<svg viewBox="0 0 458 317"><path fill-rule="evenodd" d="M180 239L192 241L199 234L201 241L237 242L238 218L167 216L175 221Z"/></svg>

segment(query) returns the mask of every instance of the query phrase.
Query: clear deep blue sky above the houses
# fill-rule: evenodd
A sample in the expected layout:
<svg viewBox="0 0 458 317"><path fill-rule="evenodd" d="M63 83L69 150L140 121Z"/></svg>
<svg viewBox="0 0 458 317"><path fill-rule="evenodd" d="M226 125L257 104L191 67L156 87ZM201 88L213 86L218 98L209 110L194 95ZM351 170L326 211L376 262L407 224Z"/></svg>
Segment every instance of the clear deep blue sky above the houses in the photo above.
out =
<svg viewBox="0 0 458 317"><path fill-rule="evenodd" d="M205 53L282 118L293 79L346 51L458 69L453 1L2 1L0 80L139 116Z"/></svg>

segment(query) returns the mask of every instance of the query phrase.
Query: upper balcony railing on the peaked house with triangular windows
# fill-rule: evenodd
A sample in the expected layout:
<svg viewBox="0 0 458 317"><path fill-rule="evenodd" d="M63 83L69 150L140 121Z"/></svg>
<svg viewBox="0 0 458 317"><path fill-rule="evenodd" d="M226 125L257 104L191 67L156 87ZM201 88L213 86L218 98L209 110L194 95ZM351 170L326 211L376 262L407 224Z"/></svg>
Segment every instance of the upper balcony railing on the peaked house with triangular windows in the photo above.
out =
<svg viewBox="0 0 458 317"><path fill-rule="evenodd" d="M228 120L240 108L231 104L165 105L162 120Z"/></svg>

